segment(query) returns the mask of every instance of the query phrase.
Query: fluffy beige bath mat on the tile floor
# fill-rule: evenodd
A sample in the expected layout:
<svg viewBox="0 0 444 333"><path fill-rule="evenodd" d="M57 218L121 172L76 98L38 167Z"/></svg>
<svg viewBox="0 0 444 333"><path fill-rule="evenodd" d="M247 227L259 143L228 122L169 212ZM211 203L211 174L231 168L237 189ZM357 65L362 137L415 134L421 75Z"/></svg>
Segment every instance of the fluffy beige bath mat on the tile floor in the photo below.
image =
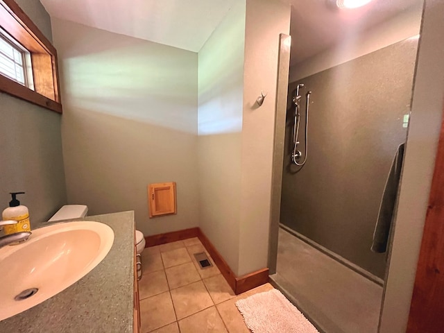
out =
<svg viewBox="0 0 444 333"><path fill-rule="evenodd" d="M236 306L253 333L319 333L278 289L238 300Z"/></svg>

